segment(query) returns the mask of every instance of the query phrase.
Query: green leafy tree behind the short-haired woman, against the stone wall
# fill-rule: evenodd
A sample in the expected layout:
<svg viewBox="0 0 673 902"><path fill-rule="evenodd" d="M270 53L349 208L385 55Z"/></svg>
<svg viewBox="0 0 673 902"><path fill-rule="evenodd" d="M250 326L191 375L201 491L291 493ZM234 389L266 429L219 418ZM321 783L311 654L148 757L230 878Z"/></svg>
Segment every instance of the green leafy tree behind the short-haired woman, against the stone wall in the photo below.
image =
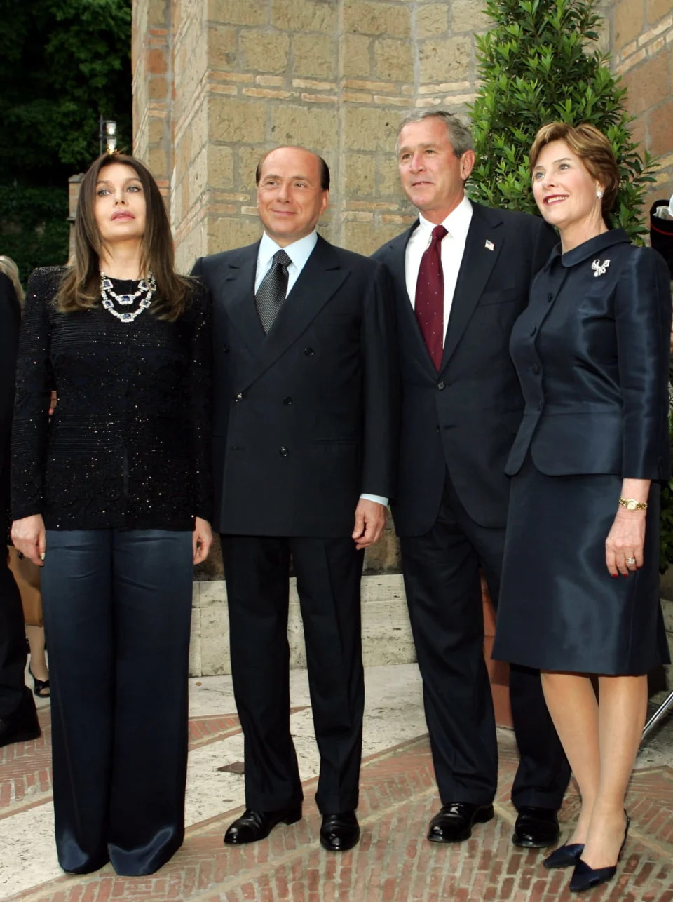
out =
<svg viewBox="0 0 673 902"><path fill-rule="evenodd" d="M645 232L641 206L652 161L633 143L632 116L597 48L596 0L487 0L493 28L477 37L481 87L471 105L477 165L470 195L492 207L537 212L528 151L541 125L587 122L613 145L622 187L613 226Z"/></svg>

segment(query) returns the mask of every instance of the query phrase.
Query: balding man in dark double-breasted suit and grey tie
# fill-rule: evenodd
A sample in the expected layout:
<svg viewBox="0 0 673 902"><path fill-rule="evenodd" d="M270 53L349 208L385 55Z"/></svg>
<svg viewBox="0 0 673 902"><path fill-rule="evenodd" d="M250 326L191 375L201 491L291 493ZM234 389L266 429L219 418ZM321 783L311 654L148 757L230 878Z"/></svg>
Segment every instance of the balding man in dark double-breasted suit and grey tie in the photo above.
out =
<svg viewBox="0 0 673 902"><path fill-rule="evenodd" d="M298 147L257 171L257 244L205 257L214 305L214 525L221 533L247 810L224 842L301 817L289 730L288 566L304 621L321 843L359 838L359 583L393 486L397 382L385 267L315 232L329 170Z"/></svg>

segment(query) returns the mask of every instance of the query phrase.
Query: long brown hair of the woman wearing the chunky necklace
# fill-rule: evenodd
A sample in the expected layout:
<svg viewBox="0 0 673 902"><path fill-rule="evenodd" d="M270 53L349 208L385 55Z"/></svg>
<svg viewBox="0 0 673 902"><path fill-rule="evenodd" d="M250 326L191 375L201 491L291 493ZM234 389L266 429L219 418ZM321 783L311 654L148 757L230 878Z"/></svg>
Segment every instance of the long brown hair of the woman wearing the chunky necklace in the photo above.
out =
<svg viewBox="0 0 673 902"><path fill-rule="evenodd" d="M179 318L188 302L192 283L175 272L173 236L159 187L150 170L125 153L104 153L86 170L75 213L75 253L61 282L58 307L64 313L96 307L100 298L101 236L95 224L95 186L100 171L113 163L131 166L138 175L145 197L145 235L142 238L141 272L154 273L156 300L150 310L161 319Z"/></svg>

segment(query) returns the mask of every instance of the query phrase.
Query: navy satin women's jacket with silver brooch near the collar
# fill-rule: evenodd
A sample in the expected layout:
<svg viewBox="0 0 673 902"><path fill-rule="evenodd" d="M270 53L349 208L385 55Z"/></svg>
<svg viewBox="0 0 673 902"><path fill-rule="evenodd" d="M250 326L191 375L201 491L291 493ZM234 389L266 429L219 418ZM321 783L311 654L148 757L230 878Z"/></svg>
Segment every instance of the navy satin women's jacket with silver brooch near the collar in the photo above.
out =
<svg viewBox="0 0 673 902"><path fill-rule="evenodd" d="M560 248L560 245L559 245ZM668 269L622 229L557 248L512 333L525 412L507 461L668 480Z"/></svg>

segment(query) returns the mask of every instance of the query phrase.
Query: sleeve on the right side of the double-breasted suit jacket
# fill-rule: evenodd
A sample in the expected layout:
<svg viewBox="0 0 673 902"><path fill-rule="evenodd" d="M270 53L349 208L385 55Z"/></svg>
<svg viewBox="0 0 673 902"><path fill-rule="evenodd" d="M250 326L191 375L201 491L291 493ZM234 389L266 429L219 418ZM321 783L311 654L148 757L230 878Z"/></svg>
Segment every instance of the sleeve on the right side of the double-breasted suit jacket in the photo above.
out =
<svg viewBox="0 0 673 902"><path fill-rule="evenodd" d="M399 375L396 325L387 270L378 264L363 312L364 422L361 494L392 498L396 484Z"/></svg>

